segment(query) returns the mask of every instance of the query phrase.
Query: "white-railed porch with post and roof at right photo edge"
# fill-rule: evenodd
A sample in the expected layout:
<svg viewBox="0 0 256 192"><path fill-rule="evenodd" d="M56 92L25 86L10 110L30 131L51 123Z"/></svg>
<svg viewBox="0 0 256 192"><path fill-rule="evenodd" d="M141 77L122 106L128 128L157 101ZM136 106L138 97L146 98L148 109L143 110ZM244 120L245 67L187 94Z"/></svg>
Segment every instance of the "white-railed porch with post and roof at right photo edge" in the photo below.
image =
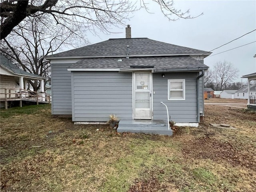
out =
<svg viewBox="0 0 256 192"><path fill-rule="evenodd" d="M250 86L252 80L256 80L256 73L248 74L242 76L242 78L248 78L248 96L247 96L247 105L248 108L256 110L256 85Z"/></svg>

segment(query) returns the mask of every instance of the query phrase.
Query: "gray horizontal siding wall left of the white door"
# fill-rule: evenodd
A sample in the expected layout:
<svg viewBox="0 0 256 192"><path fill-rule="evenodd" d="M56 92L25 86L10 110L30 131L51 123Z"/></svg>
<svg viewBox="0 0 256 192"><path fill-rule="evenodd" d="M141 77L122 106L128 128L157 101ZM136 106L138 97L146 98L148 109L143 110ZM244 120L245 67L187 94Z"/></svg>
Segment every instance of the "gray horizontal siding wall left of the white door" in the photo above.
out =
<svg viewBox="0 0 256 192"><path fill-rule="evenodd" d="M132 119L132 73L72 72L72 120Z"/></svg>

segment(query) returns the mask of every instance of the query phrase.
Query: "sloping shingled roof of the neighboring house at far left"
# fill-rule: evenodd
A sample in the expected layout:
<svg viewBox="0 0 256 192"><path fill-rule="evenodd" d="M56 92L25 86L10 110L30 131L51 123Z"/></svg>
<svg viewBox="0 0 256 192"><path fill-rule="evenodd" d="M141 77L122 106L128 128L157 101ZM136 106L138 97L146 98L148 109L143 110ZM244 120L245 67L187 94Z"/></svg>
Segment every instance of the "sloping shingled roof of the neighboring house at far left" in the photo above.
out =
<svg viewBox="0 0 256 192"><path fill-rule="evenodd" d="M32 73L29 73L29 72L26 72L24 70L19 69L18 67L16 67L10 60L8 60L2 54L0 54L0 64L4 68L6 68L7 70L9 70L10 72L12 72L13 74L16 74L16 75L30 76L30 77L34 77L34 78L37 78L37 79L46 79L45 77L42 77L40 75L32 74Z"/></svg>

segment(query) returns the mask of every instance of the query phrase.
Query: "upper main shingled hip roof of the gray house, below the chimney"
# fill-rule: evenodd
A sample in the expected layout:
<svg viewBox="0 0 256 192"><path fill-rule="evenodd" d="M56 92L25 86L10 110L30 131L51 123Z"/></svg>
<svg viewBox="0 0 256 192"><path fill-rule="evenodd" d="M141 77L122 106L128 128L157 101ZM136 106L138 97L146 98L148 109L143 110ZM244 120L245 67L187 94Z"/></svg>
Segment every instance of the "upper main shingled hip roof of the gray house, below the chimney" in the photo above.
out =
<svg viewBox="0 0 256 192"><path fill-rule="evenodd" d="M46 56L46 58L65 57L123 57L127 54L127 45L130 57L132 56L164 56L164 55L209 55L210 52L188 47L168 44L149 38L118 38L109 39L96 44Z"/></svg>

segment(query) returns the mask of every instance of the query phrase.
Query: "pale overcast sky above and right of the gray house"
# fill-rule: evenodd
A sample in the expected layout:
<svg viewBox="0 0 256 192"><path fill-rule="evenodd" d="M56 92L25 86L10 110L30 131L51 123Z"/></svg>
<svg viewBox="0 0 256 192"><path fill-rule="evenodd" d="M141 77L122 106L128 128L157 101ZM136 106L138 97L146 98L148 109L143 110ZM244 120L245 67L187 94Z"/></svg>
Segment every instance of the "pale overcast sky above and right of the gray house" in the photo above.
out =
<svg viewBox="0 0 256 192"><path fill-rule="evenodd" d="M134 13L134 17L127 22L132 29L132 38L147 37L170 44L210 51L256 29L256 0L176 0L174 1L175 8L184 11L190 9L192 16L204 13L198 18L177 21L169 21L164 17L155 2L144 1L149 3L150 12L154 14L149 14L145 10ZM120 33L106 35L99 32L99 36L88 34L88 40L93 44L109 38L125 38L125 28L112 28L112 32ZM212 51L212 55L254 41L256 41L256 31ZM204 59L204 63L212 67L219 61L231 62L240 70L237 81L241 81L240 76L256 72L254 54L256 54L256 42L222 54L208 56Z"/></svg>

